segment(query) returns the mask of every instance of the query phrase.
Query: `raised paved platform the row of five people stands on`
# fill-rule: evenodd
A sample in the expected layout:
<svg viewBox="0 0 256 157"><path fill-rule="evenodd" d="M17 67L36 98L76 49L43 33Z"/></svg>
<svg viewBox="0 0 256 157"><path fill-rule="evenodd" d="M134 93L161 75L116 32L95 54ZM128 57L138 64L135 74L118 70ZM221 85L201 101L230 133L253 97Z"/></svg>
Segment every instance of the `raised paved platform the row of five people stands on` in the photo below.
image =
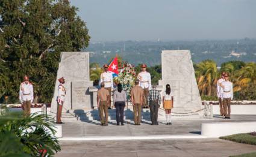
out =
<svg viewBox="0 0 256 157"><path fill-rule="evenodd" d="M201 134L203 122L245 122L255 121L256 115L233 115L231 119L222 119L215 116L214 119L196 120L172 120L172 125L166 125L160 121L159 125L151 125L151 122L143 120L141 125L127 120L124 126L117 126L115 120L111 120L108 126L101 126L100 122L66 122L63 126L63 137L91 137L91 136L120 136L120 135L175 135L175 134Z"/></svg>

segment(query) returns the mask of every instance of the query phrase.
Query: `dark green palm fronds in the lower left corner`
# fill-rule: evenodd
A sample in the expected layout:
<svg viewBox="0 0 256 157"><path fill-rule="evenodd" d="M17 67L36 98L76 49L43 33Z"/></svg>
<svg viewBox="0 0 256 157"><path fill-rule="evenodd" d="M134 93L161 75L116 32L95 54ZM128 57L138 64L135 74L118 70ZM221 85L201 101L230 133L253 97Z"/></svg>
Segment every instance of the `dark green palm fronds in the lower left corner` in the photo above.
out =
<svg viewBox="0 0 256 157"><path fill-rule="evenodd" d="M23 117L22 112L0 114L0 156L52 156L60 151L53 119L43 114ZM42 155L42 151L46 154Z"/></svg>

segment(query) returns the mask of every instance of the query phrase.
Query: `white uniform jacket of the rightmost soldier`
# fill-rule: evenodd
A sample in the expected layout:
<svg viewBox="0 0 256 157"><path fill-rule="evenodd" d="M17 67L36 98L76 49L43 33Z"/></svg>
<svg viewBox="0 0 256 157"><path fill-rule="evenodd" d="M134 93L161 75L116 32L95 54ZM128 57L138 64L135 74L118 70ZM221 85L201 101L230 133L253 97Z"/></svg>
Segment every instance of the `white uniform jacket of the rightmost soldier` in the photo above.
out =
<svg viewBox="0 0 256 157"><path fill-rule="evenodd" d="M233 83L230 81L222 81L220 84L222 86L220 89L220 93L222 98L231 98L233 99Z"/></svg>

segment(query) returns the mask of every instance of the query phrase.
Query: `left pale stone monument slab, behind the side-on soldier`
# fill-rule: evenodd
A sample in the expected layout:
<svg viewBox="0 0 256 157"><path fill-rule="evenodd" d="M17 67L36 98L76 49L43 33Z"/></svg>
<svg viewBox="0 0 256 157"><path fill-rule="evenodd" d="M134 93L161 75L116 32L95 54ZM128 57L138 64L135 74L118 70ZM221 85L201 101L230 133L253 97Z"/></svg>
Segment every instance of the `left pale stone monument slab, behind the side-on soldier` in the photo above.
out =
<svg viewBox="0 0 256 157"><path fill-rule="evenodd" d="M92 108L92 93L89 87L93 86L90 81L89 53L87 52L62 52L58 73L55 82L54 96L51 102L52 114L57 111L58 78L64 77L66 99L63 112L70 109Z"/></svg>

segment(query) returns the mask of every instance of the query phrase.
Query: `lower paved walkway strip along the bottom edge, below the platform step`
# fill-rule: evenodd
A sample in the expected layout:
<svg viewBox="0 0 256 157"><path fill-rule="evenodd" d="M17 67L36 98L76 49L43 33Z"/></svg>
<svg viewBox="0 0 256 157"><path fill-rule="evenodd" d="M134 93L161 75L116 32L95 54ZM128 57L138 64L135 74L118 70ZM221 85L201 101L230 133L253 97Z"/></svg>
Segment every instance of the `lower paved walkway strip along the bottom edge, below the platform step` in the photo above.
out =
<svg viewBox="0 0 256 157"><path fill-rule="evenodd" d="M61 141L55 156L230 156L256 152L256 146L217 138L136 141Z"/></svg>

